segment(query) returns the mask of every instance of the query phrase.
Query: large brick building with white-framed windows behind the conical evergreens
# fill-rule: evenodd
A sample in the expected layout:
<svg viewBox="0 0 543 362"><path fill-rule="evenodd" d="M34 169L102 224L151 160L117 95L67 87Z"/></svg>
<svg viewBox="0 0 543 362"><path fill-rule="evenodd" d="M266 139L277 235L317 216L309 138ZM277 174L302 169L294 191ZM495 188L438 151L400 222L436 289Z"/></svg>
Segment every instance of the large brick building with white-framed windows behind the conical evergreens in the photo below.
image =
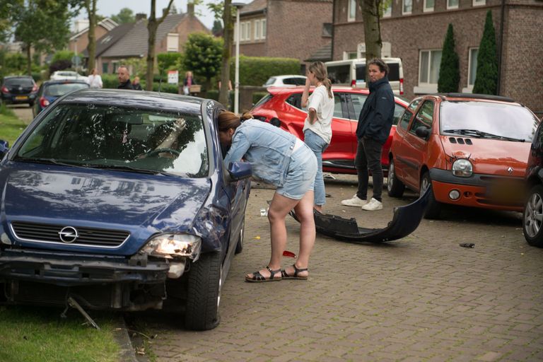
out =
<svg viewBox="0 0 543 362"><path fill-rule="evenodd" d="M501 69L499 94L543 114L542 0L392 0L380 23L383 56L402 58L408 98L437 92L441 49L449 23L460 58L458 91L472 91L477 51L489 10ZM359 1L334 0L333 22L332 58L365 57Z"/></svg>

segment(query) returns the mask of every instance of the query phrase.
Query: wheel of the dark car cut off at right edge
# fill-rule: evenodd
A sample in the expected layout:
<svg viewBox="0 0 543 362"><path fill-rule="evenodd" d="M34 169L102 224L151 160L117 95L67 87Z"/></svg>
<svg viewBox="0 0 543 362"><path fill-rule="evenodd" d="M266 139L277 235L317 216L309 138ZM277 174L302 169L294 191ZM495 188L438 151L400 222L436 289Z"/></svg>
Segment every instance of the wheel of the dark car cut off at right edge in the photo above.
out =
<svg viewBox="0 0 543 362"><path fill-rule="evenodd" d="M543 214L543 185L530 189L522 213L522 232L527 243L535 247L543 247L543 221L537 216Z"/></svg>

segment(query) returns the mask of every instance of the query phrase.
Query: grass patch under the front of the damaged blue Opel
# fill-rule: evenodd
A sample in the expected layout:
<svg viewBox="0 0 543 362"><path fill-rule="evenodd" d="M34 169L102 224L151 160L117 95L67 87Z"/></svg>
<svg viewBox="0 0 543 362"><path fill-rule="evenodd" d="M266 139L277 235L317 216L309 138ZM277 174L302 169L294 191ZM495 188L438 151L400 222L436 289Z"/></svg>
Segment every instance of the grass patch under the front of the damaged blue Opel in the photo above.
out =
<svg viewBox="0 0 543 362"><path fill-rule="evenodd" d="M117 362L115 316L92 313L100 330L86 325L76 310L0 307L0 361Z"/></svg>

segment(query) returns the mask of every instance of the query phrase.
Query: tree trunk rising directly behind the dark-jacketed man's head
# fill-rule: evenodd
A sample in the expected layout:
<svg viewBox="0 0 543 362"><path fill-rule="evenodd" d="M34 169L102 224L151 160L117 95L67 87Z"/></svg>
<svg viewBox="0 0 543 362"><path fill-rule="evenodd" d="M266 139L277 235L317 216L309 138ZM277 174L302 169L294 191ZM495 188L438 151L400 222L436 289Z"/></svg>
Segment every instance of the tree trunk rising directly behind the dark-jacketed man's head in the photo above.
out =
<svg viewBox="0 0 543 362"><path fill-rule="evenodd" d="M361 0L362 20L364 23L364 42L366 43L366 64L373 58L381 57L381 25L379 9L381 0ZM368 67L366 66L366 78Z"/></svg>

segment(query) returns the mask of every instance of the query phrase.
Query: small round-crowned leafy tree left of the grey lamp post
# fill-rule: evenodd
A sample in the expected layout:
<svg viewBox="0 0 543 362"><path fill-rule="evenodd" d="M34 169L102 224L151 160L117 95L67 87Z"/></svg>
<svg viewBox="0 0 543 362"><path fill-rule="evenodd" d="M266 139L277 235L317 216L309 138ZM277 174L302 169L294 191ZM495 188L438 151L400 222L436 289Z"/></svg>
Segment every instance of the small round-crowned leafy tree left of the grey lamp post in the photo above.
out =
<svg viewBox="0 0 543 362"><path fill-rule="evenodd" d="M205 91L211 89L211 78L221 71L223 40L204 33L189 34L185 44L185 69L192 71L196 78L204 78Z"/></svg>

